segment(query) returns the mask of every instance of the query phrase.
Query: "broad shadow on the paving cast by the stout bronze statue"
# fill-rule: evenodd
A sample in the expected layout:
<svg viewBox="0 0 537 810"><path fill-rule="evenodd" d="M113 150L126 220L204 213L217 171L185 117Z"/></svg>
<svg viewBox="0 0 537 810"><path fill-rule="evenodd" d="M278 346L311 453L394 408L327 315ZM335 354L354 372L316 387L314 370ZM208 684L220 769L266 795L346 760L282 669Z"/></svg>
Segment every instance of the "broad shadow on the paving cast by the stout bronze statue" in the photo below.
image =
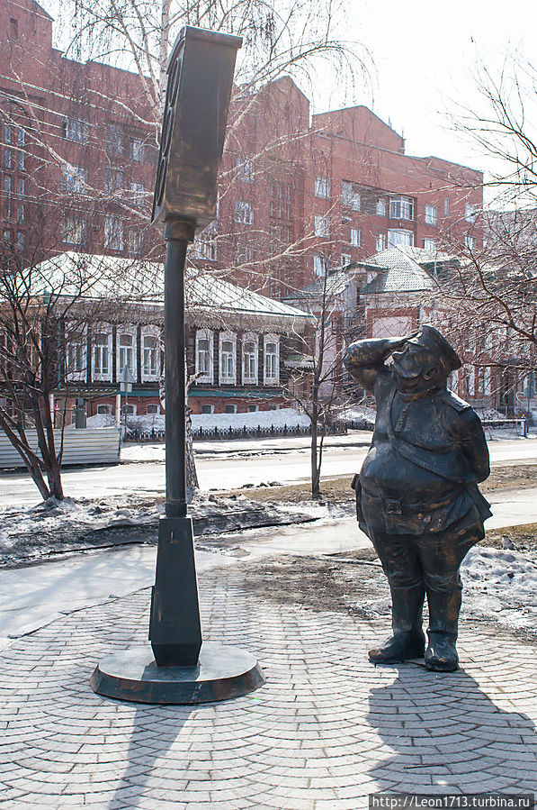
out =
<svg viewBox="0 0 537 810"><path fill-rule="evenodd" d="M369 771L379 790L537 791L537 734L526 714L499 708L463 669L395 669L397 677L369 697L368 723L395 751Z"/></svg>

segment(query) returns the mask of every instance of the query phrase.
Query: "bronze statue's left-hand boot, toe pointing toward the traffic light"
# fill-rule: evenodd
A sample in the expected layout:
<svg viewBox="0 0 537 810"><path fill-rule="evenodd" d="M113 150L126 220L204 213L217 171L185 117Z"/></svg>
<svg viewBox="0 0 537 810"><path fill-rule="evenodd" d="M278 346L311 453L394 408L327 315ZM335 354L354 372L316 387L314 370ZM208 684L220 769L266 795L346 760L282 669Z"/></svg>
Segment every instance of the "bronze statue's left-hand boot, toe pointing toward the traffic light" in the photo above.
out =
<svg viewBox="0 0 537 810"><path fill-rule="evenodd" d="M372 664L393 664L424 655L423 587L391 588L391 604L393 635L369 651Z"/></svg>

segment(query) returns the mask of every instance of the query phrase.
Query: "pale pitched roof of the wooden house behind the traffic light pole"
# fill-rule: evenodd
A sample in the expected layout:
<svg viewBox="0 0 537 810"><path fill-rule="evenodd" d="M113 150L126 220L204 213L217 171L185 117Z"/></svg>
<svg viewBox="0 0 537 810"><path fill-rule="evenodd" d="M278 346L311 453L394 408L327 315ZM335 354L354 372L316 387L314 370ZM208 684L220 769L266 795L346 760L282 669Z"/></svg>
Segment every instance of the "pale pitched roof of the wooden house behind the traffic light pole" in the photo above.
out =
<svg viewBox="0 0 537 810"><path fill-rule="evenodd" d="M65 296L121 298L130 304L164 305L164 265L159 261L69 250L40 262L34 268L33 285L36 293L41 294L54 290L58 295L61 290ZM311 317L211 272L187 270L184 287L186 307L199 313L267 316L286 323Z"/></svg>

